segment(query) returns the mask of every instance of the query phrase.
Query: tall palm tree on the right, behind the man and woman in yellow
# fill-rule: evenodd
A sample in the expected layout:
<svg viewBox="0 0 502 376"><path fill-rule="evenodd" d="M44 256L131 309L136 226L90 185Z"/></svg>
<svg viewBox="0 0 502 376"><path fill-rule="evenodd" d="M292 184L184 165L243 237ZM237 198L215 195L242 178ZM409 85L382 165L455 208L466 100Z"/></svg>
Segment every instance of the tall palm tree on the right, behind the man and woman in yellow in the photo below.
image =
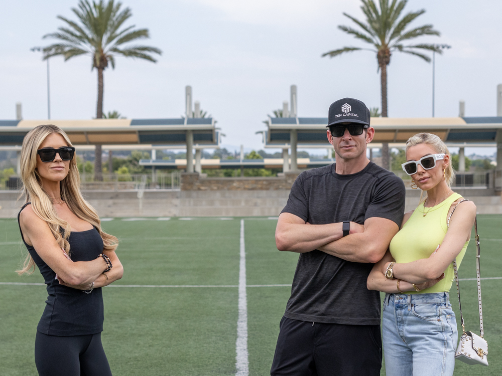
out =
<svg viewBox="0 0 502 376"><path fill-rule="evenodd" d="M439 36L439 32L433 29L432 25L424 25L411 30L405 30L417 17L423 15L425 10L409 12L400 19L401 13L406 6L407 0L379 0L379 7L373 0L361 0L361 10L366 20L361 22L356 18L343 15L353 21L362 31L352 29L349 26L338 26L341 31L352 35L354 38L370 44L372 47L344 47L339 50L329 51L322 54L322 57L335 57L352 51L371 51L376 53L378 69L380 70L380 81L382 90L382 116L387 117L387 66L391 62L391 55L394 51L417 56L426 62L431 58L422 53L425 51L435 51L438 54L442 50L433 44L404 44L409 40L425 35ZM390 4L389 4L390 3ZM379 9L380 8L380 9ZM382 147L383 165L389 169L389 144L384 143Z"/></svg>

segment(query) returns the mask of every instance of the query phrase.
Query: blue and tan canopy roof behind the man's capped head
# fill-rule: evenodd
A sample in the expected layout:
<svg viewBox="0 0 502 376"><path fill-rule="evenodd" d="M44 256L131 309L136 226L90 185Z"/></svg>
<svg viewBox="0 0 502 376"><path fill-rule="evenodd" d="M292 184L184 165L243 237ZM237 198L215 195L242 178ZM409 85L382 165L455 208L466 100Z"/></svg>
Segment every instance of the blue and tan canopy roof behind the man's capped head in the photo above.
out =
<svg viewBox="0 0 502 376"><path fill-rule="evenodd" d="M327 124L326 117L269 118L265 147L289 146L291 130L297 130L299 148L328 147ZM416 133L430 132L449 144L487 142L491 146L497 129L502 129L502 117L376 117L371 118L371 126L375 128L373 142L402 143Z"/></svg>

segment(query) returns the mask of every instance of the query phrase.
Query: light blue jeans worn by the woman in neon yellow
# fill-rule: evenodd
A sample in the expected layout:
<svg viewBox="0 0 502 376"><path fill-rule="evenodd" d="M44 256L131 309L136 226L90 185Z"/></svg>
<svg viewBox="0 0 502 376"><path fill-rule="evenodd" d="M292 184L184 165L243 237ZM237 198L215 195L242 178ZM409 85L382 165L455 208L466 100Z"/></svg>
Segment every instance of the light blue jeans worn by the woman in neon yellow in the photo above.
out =
<svg viewBox="0 0 502 376"><path fill-rule="evenodd" d="M382 338L387 376L451 376L457 322L447 292L386 294Z"/></svg>

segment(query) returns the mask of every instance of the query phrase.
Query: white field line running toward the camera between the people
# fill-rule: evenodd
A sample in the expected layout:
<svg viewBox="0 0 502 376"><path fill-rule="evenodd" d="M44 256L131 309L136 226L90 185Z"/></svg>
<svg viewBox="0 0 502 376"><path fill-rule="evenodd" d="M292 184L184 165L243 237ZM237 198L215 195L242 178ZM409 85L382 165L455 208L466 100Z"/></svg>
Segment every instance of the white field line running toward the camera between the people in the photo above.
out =
<svg viewBox="0 0 502 376"><path fill-rule="evenodd" d="M244 220L240 220L240 263L239 263L239 316L237 318L237 340L235 342L235 376L248 376L247 354L247 297L246 297L246 253L244 245Z"/></svg>

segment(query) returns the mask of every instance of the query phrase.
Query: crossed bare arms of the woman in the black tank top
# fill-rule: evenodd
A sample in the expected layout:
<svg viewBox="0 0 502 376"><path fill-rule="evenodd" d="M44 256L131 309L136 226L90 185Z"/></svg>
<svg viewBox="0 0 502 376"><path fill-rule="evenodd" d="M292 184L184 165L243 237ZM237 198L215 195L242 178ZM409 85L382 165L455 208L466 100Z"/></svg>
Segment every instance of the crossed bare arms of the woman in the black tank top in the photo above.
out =
<svg viewBox="0 0 502 376"><path fill-rule="evenodd" d="M123 268L115 252L107 253L113 265L106 273L107 281L102 273L108 267L101 257L92 261L68 260L56 243L49 225L35 214L31 205L21 212L20 225L26 243L35 248L42 260L58 275L62 285L87 290L92 282L94 287L102 287L122 277Z"/></svg>

